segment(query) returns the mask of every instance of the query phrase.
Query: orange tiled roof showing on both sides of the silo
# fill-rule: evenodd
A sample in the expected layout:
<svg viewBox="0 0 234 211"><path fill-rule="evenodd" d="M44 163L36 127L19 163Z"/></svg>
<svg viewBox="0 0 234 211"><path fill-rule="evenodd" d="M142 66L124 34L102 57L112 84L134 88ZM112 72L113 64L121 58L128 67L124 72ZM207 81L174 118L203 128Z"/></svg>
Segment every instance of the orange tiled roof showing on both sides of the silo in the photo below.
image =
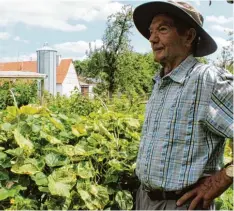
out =
<svg viewBox="0 0 234 211"><path fill-rule="evenodd" d="M56 71L57 84L63 83L69 70L72 59L62 59ZM0 63L0 71L28 71L37 72L36 61Z"/></svg>

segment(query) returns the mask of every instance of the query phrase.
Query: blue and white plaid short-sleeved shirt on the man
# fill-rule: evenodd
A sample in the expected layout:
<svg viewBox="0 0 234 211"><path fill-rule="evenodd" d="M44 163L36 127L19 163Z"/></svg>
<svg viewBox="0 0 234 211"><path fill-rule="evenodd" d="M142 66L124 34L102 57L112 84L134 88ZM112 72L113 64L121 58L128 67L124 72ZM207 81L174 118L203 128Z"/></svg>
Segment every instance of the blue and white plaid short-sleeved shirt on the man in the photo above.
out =
<svg viewBox="0 0 234 211"><path fill-rule="evenodd" d="M222 165L233 136L233 75L188 56L155 77L136 174L149 188L181 190Z"/></svg>

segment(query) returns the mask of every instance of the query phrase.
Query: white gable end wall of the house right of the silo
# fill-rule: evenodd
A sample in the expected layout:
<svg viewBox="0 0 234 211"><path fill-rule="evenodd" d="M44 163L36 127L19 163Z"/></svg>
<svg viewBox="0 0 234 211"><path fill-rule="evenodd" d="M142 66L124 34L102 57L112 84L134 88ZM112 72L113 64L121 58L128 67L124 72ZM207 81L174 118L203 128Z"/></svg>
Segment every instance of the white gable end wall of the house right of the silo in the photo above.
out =
<svg viewBox="0 0 234 211"><path fill-rule="evenodd" d="M71 63L68 73L62 83L62 94L66 96L70 96L71 91L73 91L75 87L77 87L78 90L81 91L75 67Z"/></svg>

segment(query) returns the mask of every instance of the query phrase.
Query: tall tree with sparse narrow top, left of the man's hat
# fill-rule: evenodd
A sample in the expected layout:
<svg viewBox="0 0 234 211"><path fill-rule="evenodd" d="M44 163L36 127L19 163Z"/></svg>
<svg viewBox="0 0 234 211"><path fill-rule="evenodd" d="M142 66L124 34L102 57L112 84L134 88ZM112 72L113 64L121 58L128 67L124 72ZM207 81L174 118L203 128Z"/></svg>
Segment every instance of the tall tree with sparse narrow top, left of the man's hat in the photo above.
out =
<svg viewBox="0 0 234 211"><path fill-rule="evenodd" d="M90 49L88 72L103 82L112 98L118 89L118 60L120 56L131 49L130 30L133 27L132 7L124 5L120 12L110 15L103 36L103 46L100 49Z"/></svg>

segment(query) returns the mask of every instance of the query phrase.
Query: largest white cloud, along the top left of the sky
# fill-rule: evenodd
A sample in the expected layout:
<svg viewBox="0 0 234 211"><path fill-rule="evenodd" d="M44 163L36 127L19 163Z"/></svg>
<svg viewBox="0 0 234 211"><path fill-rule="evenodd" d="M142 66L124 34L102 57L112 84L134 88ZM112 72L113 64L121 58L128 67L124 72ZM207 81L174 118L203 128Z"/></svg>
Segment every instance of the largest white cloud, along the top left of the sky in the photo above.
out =
<svg viewBox="0 0 234 211"><path fill-rule="evenodd" d="M104 20L121 9L111 0L1 0L0 26L24 23L60 31L86 29L79 21Z"/></svg>

